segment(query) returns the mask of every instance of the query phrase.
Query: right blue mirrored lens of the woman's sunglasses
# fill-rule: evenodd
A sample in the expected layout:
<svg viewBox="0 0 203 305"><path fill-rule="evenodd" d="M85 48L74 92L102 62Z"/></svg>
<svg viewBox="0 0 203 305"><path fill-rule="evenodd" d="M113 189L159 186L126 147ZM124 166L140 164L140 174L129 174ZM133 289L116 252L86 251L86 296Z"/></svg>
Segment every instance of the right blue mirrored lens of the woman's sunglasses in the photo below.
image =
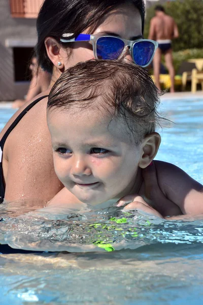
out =
<svg viewBox="0 0 203 305"><path fill-rule="evenodd" d="M154 54L154 48L154 44L150 41L139 41L134 44L132 49L134 62L139 66L148 65Z"/></svg>

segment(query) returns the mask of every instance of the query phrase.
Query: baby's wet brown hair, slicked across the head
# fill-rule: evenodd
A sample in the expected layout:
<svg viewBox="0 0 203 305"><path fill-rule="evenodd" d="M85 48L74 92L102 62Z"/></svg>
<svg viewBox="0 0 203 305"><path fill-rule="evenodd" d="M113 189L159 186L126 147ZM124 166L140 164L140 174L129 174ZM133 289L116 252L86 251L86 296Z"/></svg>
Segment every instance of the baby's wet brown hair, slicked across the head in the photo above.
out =
<svg viewBox="0 0 203 305"><path fill-rule="evenodd" d="M158 104L159 92L147 70L123 60L93 59L61 74L49 94L47 110L93 106L95 111L106 110L112 118L124 118L126 131L138 142L155 132Z"/></svg>

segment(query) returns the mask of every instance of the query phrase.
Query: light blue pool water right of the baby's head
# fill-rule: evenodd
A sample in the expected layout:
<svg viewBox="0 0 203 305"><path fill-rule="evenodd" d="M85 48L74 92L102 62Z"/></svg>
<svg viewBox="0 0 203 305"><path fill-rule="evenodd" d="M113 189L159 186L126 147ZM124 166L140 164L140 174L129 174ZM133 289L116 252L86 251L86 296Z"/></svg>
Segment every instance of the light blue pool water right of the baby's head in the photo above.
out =
<svg viewBox="0 0 203 305"><path fill-rule="evenodd" d="M160 110L174 124L160 132L162 142L156 159L181 167L203 184L203 97L163 100Z"/></svg>

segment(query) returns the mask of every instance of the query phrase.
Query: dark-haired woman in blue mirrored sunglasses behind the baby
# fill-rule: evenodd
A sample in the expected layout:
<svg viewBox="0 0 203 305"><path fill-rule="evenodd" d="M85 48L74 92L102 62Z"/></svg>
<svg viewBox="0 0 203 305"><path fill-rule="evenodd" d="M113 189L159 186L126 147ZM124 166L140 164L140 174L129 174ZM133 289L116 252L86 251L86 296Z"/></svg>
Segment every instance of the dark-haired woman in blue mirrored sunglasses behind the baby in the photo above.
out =
<svg viewBox="0 0 203 305"><path fill-rule="evenodd" d="M52 74L51 83L36 97L39 99L35 105L31 100L19 109L1 133L2 198L48 201L60 191L63 186L54 172L46 120L51 87L64 70L94 57L117 59L125 53L126 59L147 66L156 43L131 46L131 42L118 39L142 39L143 27L143 0L58 0L57 4L45 0L37 20L36 55L39 66ZM100 39L101 36L113 37ZM126 43L131 46L130 51Z"/></svg>

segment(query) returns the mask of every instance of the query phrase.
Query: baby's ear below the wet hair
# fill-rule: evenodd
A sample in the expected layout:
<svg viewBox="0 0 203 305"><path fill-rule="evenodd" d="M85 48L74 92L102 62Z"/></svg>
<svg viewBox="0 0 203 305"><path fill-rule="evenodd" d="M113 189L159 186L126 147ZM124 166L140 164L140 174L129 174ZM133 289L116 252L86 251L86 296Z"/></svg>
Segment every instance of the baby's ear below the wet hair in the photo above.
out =
<svg viewBox="0 0 203 305"><path fill-rule="evenodd" d="M146 168L154 159L161 143L161 137L158 133L153 132L147 135L141 144L141 157L139 166Z"/></svg>

